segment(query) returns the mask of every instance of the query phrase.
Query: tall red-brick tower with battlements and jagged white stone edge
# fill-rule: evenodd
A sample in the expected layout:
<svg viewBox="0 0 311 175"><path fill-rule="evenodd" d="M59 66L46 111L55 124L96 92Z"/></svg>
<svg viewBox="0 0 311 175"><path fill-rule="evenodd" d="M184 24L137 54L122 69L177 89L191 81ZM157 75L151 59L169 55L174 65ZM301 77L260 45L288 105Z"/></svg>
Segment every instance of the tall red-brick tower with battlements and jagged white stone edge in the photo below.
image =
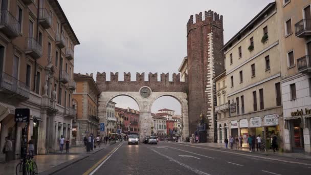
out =
<svg viewBox="0 0 311 175"><path fill-rule="evenodd" d="M208 123L208 142L214 142L213 103L216 88L212 78L223 71L223 16L209 10L190 16L187 24L189 130L196 130L199 115ZM217 132L216 132L217 133Z"/></svg>

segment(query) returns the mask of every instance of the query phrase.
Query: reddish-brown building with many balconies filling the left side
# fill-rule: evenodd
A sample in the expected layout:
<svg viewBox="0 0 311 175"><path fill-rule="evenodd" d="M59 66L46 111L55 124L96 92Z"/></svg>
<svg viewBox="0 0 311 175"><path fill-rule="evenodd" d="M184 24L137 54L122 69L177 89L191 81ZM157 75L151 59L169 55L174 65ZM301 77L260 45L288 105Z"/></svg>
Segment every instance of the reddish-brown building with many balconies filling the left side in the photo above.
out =
<svg viewBox="0 0 311 175"><path fill-rule="evenodd" d="M3 0L1 11L0 147L8 136L20 154L25 124L15 123L14 114L16 108L29 108L28 137L34 137L35 153L55 152L61 135L71 139L79 40L58 1Z"/></svg>

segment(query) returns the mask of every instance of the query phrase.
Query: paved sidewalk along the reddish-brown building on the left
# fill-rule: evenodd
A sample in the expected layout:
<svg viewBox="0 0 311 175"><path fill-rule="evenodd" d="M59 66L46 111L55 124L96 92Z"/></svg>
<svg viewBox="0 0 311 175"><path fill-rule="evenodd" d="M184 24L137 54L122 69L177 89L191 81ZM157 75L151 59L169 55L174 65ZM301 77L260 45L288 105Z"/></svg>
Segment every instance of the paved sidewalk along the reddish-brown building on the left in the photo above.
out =
<svg viewBox="0 0 311 175"><path fill-rule="evenodd" d="M79 160L87 158L88 156L95 154L107 146L109 145L102 144L100 147L97 147L91 152L86 152L86 148L84 146L74 146L69 149L69 154L56 152L49 155L37 155L34 157L34 161L38 166L40 174L50 174ZM15 174L15 168L19 162L20 160L17 159L12 160L9 163L0 163L0 175Z"/></svg>

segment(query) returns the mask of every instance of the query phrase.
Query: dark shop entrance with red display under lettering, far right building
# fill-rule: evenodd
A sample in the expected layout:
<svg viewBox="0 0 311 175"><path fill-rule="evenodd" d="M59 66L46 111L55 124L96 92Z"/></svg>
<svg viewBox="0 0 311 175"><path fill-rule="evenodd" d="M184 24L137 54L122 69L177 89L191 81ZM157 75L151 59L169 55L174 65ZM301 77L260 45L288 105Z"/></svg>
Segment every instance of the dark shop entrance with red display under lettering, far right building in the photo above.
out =
<svg viewBox="0 0 311 175"><path fill-rule="evenodd" d="M304 152L303 130L300 127L301 119L291 121L291 138L293 152Z"/></svg>

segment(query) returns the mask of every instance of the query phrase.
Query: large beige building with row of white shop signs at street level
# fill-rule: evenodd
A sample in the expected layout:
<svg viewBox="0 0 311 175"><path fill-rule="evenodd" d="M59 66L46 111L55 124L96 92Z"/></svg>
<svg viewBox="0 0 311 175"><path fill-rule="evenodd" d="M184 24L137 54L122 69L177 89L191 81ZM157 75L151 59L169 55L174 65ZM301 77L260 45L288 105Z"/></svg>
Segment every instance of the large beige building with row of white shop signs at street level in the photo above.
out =
<svg viewBox="0 0 311 175"><path fill-rule="evenodd" d="M273 134L281 140L281 68L276 2L268 4L224 46L226 95L230 107L230 136L263 137L271 147ZM221 100L221 97L220 97Z"/></svg>

